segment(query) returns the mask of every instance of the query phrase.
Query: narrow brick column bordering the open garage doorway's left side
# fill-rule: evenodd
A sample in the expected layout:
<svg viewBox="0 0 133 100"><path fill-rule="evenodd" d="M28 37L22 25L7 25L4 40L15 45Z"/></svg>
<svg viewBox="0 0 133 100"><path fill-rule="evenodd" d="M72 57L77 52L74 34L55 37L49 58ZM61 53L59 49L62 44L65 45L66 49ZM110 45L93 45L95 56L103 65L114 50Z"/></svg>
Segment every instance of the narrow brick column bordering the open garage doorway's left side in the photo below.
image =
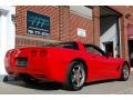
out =
<svg viewBox="0 0 133 100"><path fill-rule="evenodd" d="M93 43L100 46L100 7L93 7Z"/></svg>

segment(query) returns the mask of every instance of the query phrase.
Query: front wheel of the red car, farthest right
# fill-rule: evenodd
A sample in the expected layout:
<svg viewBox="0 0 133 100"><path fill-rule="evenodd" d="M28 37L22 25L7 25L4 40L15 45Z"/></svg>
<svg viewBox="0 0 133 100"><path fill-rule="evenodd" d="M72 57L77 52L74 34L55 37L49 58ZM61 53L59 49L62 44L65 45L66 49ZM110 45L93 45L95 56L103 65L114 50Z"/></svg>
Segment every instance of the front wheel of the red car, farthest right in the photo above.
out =
<svg viewBox="0 0 133 100"><path fill-rule="evenodd" d="M124 62L123 67L122 67L122 71L121 71L121 81L126 81L130 77L130 68L127 62Z"/></svg>

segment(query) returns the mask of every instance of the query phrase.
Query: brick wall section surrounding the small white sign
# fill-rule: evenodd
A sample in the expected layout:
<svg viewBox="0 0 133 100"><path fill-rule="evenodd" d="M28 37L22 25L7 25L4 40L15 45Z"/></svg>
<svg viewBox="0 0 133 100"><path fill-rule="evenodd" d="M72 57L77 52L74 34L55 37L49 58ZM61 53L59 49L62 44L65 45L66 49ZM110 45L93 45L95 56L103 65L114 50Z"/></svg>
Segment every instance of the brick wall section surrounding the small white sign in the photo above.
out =
<svg viewBox="0 0 133 100"><path fill-rule="evenodd" d="M84 29L86 32L85 37L78 36L78 28ZM93 21L74 14L70 13L70 40L81 41L84 43L93 43Z"/></svg>

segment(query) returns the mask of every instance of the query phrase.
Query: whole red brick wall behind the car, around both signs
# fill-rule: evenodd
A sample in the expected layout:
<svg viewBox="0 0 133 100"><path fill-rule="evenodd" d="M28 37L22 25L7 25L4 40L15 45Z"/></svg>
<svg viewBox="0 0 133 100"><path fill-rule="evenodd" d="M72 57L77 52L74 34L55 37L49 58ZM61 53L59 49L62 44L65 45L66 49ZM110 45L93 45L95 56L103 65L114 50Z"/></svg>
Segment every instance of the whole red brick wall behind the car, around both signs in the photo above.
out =
<svg viewBox="0 0 133 100"><path fill-rule="evenodd" d="M50 36L37 37L27 33L27 11L33 11L50 17ZM78 28L86 30L86 37L78 37ZM44 42L81 41L93 43L93 21L70 12L65 6L18 6L17 7L16 47L42 46ZM29 38L29 39L27 39ZM50 41L51 40L51 41Z"/></svg>

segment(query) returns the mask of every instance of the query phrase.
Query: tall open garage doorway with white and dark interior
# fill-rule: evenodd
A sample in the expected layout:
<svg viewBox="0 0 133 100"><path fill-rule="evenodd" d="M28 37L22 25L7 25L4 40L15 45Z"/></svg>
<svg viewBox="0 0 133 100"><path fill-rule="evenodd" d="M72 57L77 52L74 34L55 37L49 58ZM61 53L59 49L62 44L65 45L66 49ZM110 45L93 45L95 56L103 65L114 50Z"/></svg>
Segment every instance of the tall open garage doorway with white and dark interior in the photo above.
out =
<svg viewBox="0 0 133 100"><path fill-rule="evenodd" d="M120 57L119 17L120 13L110 8L100 8L100 46L114 58Z"/></svg>

